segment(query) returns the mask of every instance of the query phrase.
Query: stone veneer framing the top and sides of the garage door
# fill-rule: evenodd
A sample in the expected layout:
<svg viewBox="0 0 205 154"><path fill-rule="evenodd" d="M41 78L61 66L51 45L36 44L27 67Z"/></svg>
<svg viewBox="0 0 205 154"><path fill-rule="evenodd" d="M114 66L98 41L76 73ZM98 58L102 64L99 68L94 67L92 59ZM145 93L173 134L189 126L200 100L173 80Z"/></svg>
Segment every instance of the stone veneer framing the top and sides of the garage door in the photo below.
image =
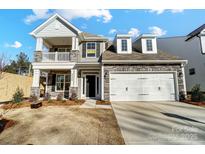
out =
<svg viewBox="0 0 205 154"><path fill-rule="evenodd" d="M158 64L158 65L104 65L104 99L109 100L109 73L111 72L140 72L140 71L176 71L178 76L179 92L184 92L183 73L180 64Z"/></svg>

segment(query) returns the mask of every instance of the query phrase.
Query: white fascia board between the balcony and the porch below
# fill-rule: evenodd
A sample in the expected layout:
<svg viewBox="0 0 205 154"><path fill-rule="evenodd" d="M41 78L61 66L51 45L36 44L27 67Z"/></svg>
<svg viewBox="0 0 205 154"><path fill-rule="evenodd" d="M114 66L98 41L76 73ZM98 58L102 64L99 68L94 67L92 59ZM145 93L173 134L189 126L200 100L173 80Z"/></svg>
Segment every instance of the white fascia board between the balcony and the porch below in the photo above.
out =
<svg viewBox="0 0 205 154"><path fill-rule="evenodd" d="M33 69L41 69L41 70L46 70L46 69L72 69L74 68L76 63L72 62L34 62L32 63Z"/></svg>

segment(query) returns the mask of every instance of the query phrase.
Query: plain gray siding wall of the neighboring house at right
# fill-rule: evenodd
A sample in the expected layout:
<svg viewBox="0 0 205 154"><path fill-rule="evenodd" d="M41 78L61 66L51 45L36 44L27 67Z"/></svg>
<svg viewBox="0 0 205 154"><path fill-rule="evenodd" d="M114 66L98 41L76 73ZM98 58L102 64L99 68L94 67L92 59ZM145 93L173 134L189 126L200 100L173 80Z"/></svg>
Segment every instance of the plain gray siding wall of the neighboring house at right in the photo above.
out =
<svg viewBox="0 0 205 154"><path fill-rule="evenodd" d="M197 37L189 41L185 39L186 37L160 38L158 48L188 60L185 66L187 91L191 91L195 84L200 84L205 91L205 55L201 53L200 40ZM196 74L189 75L190 68L195 68Z"/></svg>

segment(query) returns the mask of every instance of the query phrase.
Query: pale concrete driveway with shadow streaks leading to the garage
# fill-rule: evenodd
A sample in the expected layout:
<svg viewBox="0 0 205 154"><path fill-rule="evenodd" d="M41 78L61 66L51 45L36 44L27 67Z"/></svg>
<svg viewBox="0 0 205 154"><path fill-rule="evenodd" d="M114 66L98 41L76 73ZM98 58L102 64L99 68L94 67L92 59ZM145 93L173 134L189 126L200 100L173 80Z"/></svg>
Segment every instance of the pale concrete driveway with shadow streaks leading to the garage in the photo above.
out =
<svg viewBox="0 0 205 154"><path fill-rule="evenodd" d="M205 144L205 108L180 102L112 102L126 144Z"/></svg>

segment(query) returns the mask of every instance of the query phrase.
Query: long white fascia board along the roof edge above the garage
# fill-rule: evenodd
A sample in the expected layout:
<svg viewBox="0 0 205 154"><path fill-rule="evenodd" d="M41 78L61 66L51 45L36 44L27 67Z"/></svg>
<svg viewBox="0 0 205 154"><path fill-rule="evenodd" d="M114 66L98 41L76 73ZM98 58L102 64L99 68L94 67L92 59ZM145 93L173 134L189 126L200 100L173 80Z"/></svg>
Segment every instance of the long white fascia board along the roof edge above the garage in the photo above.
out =
<svg viewBox="0 0 205 154"><path fill-rule="evenodd" d="M102 60L104 64L188 64L187 60Z"/></svg>

